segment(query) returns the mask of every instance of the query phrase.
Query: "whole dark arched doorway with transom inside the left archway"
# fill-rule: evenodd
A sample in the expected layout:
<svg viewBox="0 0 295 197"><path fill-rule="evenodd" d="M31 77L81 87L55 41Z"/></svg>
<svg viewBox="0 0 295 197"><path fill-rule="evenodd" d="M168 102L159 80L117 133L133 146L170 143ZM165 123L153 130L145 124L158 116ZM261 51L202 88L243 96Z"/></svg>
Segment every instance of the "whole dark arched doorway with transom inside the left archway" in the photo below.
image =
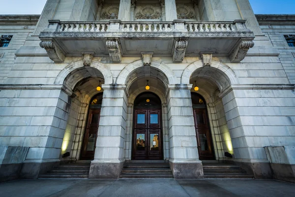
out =
<svg viewBox="0 0 295 197"><path fill-rule="evenodd" d="M94 159L102 97L103 93L99 93L95 95L90 101L87 125L85 128L84 140L81 148L81 160Z"/></svg>

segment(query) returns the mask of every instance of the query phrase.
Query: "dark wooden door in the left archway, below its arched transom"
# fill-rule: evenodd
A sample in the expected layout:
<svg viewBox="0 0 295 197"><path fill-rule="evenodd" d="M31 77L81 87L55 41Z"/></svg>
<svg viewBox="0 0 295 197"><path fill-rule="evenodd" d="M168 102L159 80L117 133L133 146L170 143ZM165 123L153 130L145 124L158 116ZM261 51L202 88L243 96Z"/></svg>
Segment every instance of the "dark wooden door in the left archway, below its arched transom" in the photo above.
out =
<svg viewBox="0 0 295 197"><path fill-rule="evenodd" d="M81 160L93 160L97 139L100 109L89 109L86 131L82 145Z"/></svg>

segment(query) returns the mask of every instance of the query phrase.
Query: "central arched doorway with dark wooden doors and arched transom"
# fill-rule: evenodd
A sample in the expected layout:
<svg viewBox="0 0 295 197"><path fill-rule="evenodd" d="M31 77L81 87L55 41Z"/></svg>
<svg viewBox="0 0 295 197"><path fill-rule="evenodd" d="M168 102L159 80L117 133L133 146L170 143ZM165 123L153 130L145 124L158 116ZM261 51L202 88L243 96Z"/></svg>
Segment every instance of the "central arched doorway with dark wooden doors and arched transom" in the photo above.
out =
<svg viewBox="0 0 295 197"><path fill-rule="evenodd" d="M134 101L132 130L133 160L162 160L161 99L154 93L140 94Z"/></svg>

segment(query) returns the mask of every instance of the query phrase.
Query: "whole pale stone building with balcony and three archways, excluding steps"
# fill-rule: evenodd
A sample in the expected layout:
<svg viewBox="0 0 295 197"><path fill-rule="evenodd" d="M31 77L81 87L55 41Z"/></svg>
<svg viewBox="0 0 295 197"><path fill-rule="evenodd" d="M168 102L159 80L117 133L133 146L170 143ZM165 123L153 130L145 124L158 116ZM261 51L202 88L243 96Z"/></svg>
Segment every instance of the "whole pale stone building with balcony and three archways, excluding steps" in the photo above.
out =
<svg viewBox="0 0 295 197"><path fill-rule="evenodd" d="M0 15L0 35L1 180L85 160L89 178L134 160L203 178L212 160L295 181L294 15L47 0L40 16Z"/></svg>

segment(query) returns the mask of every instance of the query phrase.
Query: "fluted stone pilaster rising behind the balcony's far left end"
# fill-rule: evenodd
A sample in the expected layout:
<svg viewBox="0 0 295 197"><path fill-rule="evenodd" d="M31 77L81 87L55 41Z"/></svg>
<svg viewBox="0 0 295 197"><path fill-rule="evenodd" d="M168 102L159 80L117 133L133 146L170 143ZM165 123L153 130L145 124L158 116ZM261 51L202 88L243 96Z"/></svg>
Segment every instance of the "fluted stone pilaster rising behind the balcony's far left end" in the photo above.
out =
<svg viewBox="0 0 295 197"><path fill-rule="evenodd" d="M59 1L60 0L47 0L44 9L41 13L41 16L39 18L39 21L36 25L36 28L33 32L33 35L39 35L40 32L42 32L48 27L48 20L53 19L55 12L59 6Z"/></svg>

